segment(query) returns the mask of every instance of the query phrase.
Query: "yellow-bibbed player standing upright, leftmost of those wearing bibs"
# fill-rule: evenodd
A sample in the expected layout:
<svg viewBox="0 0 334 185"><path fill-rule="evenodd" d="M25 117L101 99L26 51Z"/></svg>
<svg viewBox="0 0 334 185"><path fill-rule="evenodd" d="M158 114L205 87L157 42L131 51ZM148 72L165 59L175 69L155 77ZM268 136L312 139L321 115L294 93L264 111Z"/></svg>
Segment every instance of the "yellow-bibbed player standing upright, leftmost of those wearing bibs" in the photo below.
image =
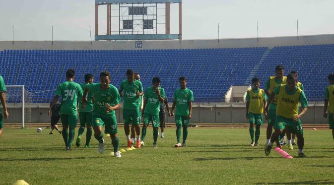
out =
<svg viewBox="0 0 334 185"><path fill-rule="evenodd" d="M263 110L267 105L267 95L263 89L260 89L260 78L252 79L253 87L246 94L246 118L249 120L249 133L251 135L251 146L260 146L260 126L263 124ZM254 142L255 127L255 142Z"/></svg>

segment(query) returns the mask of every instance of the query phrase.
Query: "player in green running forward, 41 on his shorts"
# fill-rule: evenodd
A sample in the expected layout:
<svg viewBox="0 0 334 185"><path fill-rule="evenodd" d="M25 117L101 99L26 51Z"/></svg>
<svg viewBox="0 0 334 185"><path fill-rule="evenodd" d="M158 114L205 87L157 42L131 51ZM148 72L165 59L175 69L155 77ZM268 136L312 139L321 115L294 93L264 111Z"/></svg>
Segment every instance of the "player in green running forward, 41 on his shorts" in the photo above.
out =
<svg viewBox="0 0 334 185"><path fill-rule="evenodd" d="M114 147L115 157L121 157L119 152L120 139L117 135L117 121L115 110L120 108L121 97L117 88L110 84L111 75L108 71L100 73L100 83L88 84L83 92L82 108L85 109L88 92L94 97L94 107L92 110L92 125L94 137L99 141L98 151L104 151L104 139L102 127L106 126L106 133L110 134Z"/></svg>

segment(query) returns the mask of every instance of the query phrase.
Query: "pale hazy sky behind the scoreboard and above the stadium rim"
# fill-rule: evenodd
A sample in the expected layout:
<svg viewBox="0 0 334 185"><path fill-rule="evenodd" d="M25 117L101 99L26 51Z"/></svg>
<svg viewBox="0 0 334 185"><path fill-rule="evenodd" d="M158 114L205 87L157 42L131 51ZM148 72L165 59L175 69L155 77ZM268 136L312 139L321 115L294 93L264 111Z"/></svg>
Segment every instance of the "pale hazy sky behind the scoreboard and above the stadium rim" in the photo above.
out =
<svg viewBox="0 0 334 185"><path fill-rule="evenodd" d="M183 0L183 39L279 37L334 33L334 0ZM106 6L99 8L106 33ZM0 0L0 40L90 40L94 0ZM171 5L171 33L178 34L178 4Z"/></svg>

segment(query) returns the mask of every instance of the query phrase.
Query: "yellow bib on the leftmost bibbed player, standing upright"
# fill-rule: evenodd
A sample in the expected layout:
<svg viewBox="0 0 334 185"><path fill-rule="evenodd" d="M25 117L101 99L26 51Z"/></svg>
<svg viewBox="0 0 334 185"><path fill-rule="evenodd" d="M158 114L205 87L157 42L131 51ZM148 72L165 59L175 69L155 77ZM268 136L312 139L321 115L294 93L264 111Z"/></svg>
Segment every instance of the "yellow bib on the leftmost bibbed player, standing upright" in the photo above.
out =
<svg viewBox="0 0 334 185"><path fill-rule="evenodd" d="M249 95L249 108L248 111L253 114L263 114L263 96L264 90L259 89L258 93L255 93L253 89L248 90Z"/></svg>

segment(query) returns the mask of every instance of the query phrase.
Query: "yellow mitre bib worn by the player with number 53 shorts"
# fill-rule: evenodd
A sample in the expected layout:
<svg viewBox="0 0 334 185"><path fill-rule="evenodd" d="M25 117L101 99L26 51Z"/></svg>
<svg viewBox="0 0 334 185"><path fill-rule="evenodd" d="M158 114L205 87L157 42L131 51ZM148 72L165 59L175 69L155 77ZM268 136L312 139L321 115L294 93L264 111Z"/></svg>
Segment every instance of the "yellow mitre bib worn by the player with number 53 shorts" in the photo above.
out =
<svg viewBox="0 0 334 185"><path fill-rule="evenodd" d="M299 96L302 90L298 87L293 95L286 92L286 84L282 84L277 95L276 115L283 118L293 119L298 115Z"/></svg>

